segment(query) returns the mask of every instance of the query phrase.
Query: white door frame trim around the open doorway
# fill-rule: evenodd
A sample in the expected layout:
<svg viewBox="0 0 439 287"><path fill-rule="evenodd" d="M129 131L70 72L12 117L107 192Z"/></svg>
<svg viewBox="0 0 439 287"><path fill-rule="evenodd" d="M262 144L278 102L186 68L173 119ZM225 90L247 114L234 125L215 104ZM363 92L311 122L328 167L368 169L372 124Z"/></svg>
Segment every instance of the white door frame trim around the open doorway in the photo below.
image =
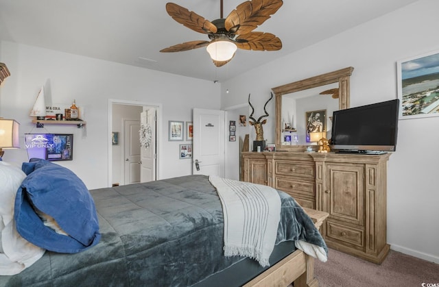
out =
<svg viewBox="0 0 439 287"><path fill-rule="evenodd" d="M161 149L160 149L160 142L162 138L162 104L161 103L149 103L144 101L129 101L129 100L123 100L123 99L108 99L108 171L107 171L107 178L108 178L108 187L112 186L112 143L111 143L111 132L112 132L112 104L116 103L119 105L139 105L143 108L145 107L154 107L156 108L156 116L157 116L157 138L156 138L156 154L157 154L157 160L156 160L156 179L160 178L161 173Z"/></svg>

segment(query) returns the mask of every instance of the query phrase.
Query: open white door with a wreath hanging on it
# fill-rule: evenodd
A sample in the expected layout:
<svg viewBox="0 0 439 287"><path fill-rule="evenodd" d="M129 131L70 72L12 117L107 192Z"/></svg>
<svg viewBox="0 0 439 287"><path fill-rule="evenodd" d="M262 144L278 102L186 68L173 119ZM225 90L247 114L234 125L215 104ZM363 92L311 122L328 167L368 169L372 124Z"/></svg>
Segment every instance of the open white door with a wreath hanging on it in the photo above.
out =
<svg viewBox="0 0 439 287"><path fill-rule="evenodd" d="M140 182L156 180L156 108L148 108L140 116L141 125L151 137L149 147L141 147Z"/></svg>

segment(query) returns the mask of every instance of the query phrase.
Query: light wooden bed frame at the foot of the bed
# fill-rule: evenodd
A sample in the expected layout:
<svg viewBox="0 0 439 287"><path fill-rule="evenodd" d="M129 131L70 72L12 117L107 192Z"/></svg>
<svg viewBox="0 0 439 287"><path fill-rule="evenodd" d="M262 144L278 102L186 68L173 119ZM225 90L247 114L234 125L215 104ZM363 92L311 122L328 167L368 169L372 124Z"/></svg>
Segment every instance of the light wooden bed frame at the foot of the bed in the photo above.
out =
<svg viewBox="0 0 439 287"><path fill-rule="evenodd" d="M329 216L327 212L309 208L303 208L303 210L311 217L317 228L320 228ZM318 287L318 279L314 277L314 258L301 250L289 254L245 284L244 287L288 286L292 282L294 282L294 287Z"/></svg>

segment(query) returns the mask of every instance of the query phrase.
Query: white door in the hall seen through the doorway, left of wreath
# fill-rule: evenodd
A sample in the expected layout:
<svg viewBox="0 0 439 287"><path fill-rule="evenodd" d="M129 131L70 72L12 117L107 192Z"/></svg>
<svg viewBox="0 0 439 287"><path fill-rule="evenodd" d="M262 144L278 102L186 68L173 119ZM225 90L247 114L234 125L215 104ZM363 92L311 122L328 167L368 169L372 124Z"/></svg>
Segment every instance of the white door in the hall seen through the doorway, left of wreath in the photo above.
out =
<svg viewBox="0 0 439 287"><path fill-rule="evenodd" d="M140 182L140 121L123 120L124 184Z"/></svg>

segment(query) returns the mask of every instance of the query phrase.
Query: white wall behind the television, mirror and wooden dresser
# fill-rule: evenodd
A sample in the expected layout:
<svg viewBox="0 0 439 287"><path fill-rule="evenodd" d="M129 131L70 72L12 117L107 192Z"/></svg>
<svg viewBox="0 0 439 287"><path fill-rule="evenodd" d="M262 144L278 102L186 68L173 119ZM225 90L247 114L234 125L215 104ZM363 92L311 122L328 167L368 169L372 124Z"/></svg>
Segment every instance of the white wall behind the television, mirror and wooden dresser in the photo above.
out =
<svg viewBox="0 0 439 287"><path fill-rule="evenodd" d="M222 106L245 102L249 92L261 106L270 88L347 66L355 68L351 107L395 99L396 61L439 52L438 11L439 1L421 0L248 71L223 84ZM268 108L264 135L273 142L274 104ZM438 126L439 117L399 121L398 145L388 164L388 243L434 262L439 262Z"/></svg>

